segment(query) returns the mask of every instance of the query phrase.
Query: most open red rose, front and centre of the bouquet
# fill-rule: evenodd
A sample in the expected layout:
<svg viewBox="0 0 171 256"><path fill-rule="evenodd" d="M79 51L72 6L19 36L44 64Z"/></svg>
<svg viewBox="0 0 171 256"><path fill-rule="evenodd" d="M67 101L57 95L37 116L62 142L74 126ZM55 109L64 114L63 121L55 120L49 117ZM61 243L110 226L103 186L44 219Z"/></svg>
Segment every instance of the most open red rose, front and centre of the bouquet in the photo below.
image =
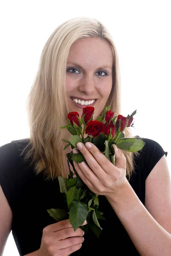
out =
<svg viewBox="0 0 171 256"><path fill-rule="evenodd" d="M101 132L105 131L105 126L100 121L92 121L87 123L87 126L85 128L85 134L92 135L93 137L97 137L101 134Z"/></svg>

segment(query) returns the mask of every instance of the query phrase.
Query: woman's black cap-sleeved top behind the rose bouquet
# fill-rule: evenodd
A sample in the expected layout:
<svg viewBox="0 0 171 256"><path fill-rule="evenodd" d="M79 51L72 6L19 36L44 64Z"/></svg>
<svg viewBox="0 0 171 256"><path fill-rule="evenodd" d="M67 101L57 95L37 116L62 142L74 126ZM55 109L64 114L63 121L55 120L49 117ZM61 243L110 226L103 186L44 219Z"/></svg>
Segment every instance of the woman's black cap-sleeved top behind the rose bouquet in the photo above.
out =
<svg viewBox="0 0 171 256"><path fill-rule="evenodd" d="M145 204L145 179L159 159L164 154L167 156L167 152L154 140L142 140L145 146L139 151L136 174L132 175L129 182L142 204ZM35 175L33 168L28 168L23 156L20 156L27 143L27 139L22 142L16 140L0 147L0 185L12 209L12 235L22 256L38 250L43 228L56 222L46 209L64 208L58 178L45 181L43 172ZM104 213L106 219L99 220L103 228L99 239L89 229L84 235L81 249L72 255L139 255L103 195L99 195L99 211ZM119 253L115 254L117 251Z"/></svg>

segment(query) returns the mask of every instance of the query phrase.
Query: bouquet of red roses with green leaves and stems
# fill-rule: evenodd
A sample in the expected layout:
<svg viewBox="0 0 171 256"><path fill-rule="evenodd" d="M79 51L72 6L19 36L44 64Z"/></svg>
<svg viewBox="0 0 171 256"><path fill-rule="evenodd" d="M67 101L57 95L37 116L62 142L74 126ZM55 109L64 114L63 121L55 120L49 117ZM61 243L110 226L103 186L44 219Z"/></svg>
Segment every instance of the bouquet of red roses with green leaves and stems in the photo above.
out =
<svg viewBox="0 0 171 256"><path fill-rule="evenodd" d="M118 115L114 116L114 112L110 110L110 106L104 108L101 116L96 120L94 117L94 108L87 106L83 108L81 118L77 112L70 112L67 115L68 124L60 128L67 130L72 134L70 141L62 139L67 145L64 150L71 145L75 148L78 142L86 143L90 141L110 160L115 164L115 151L112 144L115 144L123 151L136 152L142 149L145 143L136 138L125 138L124 131L127 127L133 127L134 111L127 117ZM84 133L87 137L84 138ZM81 163L86 161L81 152L73 154L71 151L67 154L67 164L69 168L68 178L58 177L60 191L64 195L65 209L47 209L49 215L55 218L56 221L62 221L69 218L74 230L78 227L84 229L87 227L81 226L87 219L88 226L93 230L97 237L101 233L101 227L98 219L105 220L103 212L98 210L99 198L98 195L90 191L90 189L81 180L75 170L73 161ZM70 164L74 173L70 169ZM76 177L73 177L73 176ZM87 225L86 225L87 226Z"/></svg>

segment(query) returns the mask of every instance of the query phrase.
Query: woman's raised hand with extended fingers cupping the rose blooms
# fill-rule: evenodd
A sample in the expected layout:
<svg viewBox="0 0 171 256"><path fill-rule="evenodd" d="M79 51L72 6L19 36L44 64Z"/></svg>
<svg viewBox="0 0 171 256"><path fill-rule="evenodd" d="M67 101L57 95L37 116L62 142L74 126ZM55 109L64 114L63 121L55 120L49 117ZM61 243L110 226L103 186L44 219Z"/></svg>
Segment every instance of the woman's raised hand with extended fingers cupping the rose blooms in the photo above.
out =
<svg viewBox="0 0 171 256"><path fill-rule="evenodd" d="M88 148L88 144L91 148ZM79 147L82 145L82 148ZM74 163L81 180L87 187L98 195L111 195L123 187L127 182L126 158L121 149L112 145L115 149L115 165L111 163L99 149L90 142L77 143L77 148L83 154L86 162ZM78 153L73 149L73 153Z"/></svg>

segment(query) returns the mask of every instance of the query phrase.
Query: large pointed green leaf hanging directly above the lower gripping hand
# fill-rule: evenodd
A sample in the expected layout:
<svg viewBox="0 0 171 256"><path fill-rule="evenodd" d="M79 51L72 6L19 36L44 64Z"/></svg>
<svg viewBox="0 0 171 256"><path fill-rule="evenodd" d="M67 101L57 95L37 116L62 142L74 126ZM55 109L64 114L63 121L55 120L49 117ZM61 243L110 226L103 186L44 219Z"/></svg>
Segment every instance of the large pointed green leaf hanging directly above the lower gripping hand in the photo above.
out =
<svg viewBox="0 0 171 256"><path fill-rule="evenodd" d="M87 205L85 203L73 200L70 205L70 223L74 229L77 230L87 218Z"/></svg>

